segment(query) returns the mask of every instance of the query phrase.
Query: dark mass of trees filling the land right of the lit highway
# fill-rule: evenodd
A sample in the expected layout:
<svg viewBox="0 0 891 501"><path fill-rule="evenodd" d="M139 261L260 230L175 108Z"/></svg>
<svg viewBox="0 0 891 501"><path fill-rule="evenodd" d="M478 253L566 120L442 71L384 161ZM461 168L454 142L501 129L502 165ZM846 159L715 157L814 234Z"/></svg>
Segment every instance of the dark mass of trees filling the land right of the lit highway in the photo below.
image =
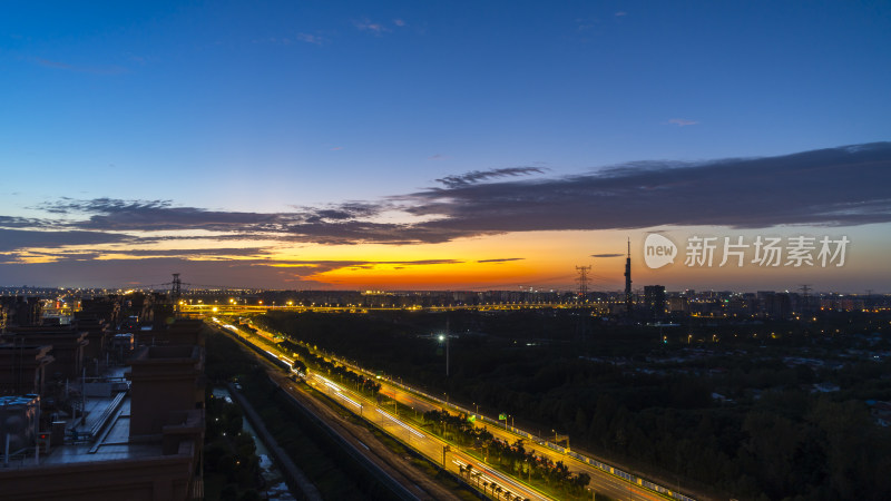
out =
<svg viewBox="0 0 891 501"><path fill-rule="evenodd" d="M277 314L257 322L464 406L479 404L489 415L509 413L541 435L567 433L574 449L682 490L741 499L891 499L891 434L863 402L891 400L891 363L817 370L783 363L807 350L842 352L850 336L820 336L789 323L707 332L692 325L684 334L699 328L724 338L702 344L707 356L692 357L695 344L665 344L653 330L601 325L572 312L450 315L459 335L450 342L448 379L443 345L431 336L446 325L443 315ZM579 327L582 322L589 324ZM746 335L734 335L744 328ZM672 357L678 361L652 362ZM840 391L811 393L821 381Z"/></svg>

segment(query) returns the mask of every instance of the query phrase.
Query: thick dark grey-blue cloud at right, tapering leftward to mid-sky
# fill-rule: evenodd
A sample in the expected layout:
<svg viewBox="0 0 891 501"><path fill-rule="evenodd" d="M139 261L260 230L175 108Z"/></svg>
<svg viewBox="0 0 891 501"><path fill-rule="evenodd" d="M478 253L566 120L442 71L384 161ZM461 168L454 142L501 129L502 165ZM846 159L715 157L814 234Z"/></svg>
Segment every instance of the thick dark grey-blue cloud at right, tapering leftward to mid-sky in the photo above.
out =
<svg viewBox="0 0 891 501"><path fill-rule="evenodd" d="M600 173L460 185L413 194L425 229L491 232L658 225L862 225L891 222L891 143L767 158L630 164Z"/></svg>

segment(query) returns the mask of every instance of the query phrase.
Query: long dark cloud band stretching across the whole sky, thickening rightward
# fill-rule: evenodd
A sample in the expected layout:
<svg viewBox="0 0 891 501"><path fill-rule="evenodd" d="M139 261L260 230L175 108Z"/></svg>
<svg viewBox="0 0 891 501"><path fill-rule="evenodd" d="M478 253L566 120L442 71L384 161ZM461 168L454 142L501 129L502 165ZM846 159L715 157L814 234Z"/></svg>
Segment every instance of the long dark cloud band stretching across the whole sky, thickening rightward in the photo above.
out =
<svg viewBox="0 0 891 501"><path fill-rule="evenodd" d="M891 143L696 164L642 161L576 176L493 180L533 173L542 170L473 171L440 179L444 187L380 203L347 202L272 214L175 207L167 200L62 199L42 208L66 215L63 222L2 217L0 227L33 225L68 232L10 234L0 248L46 246L43 240L55 245L120 242L131 237L104 232L160 229L219 232L218 239L409 245L531 230L891 222ZM400 207L424 220L370 220ZM78 215L84 217L77 219Z"/></svg>

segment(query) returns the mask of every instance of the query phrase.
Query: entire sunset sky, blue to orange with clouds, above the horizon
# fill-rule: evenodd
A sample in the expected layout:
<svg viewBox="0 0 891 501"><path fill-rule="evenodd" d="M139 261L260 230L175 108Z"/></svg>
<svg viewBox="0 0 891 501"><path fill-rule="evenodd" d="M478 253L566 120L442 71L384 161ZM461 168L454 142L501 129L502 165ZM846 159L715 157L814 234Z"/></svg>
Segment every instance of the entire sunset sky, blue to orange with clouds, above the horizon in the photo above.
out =
<svg viewBox="0 0 891 501"><path fill-rule="evenodd" d="M2 11L0 286L891 293L889 2Z"/></svg>

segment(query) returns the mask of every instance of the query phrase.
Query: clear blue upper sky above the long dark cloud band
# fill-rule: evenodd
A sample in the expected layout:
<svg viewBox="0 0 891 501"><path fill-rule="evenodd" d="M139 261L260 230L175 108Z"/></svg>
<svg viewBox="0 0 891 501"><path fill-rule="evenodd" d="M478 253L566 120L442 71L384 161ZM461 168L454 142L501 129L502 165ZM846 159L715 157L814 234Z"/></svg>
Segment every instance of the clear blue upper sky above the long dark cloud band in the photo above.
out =
<svg viewBox="0 0 891 501"><path fill-rule="evenodd" d="M380 205L469 171L547 183L891 136L888 2L134 3L4 3L0 216L58 232L47 219L87 217L47 212L62 197ZM28 248L7 250L0 283L43 273Z"/></svg>

